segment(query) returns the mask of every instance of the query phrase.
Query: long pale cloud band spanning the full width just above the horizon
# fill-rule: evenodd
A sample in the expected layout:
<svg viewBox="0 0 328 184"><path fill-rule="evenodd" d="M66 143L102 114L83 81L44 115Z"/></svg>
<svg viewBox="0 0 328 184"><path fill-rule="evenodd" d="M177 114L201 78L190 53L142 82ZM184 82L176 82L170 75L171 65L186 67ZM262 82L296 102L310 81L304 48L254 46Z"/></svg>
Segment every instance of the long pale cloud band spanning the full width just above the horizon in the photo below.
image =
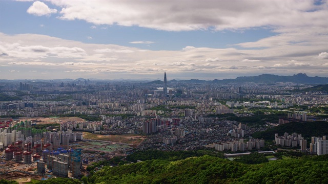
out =
<svg viewBox="0 0 328 184"><path fill-rule="evenodd" d="M36 34L0 33L0 37L0 66L2 71L5 71L3 74L10 76L8 71L20 71L15 73L16 78L29 76L28 71L47 71L49 75L45 77L48 78L78 78L80 73L105 79L145 78L166 71L189 79L198 78L202 73L207 74L208 79L213 79L218 72L227 78L278 71L286 75L305 72L311 76L325 74L319 73L318 68L322 71L328 70L328 64L322 63L322 59L318 57L318 53L322 53L322 48L326 48L326 42L293 47L281 45L260 50L187 46L178 51L151 51L114 44L83 43ZM325 39L322 37L321 40ZM307 54L308 52L310 54ZM51 70L48 70L49 67ZM277 70L281 67L283 70ZM22 77L18 77L18 74Z"/></svg>

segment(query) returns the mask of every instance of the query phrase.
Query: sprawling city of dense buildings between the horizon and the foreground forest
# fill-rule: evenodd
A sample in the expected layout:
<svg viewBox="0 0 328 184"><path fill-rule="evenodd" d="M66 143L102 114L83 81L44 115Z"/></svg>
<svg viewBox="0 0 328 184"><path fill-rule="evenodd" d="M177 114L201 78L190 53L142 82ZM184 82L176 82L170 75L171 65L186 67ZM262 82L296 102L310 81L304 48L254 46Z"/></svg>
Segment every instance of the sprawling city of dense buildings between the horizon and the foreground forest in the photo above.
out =
<svg viewBox="0 0 328 184"><path fill-rule="evenodd" d="M265 149L266 140L251 135L290 122L326 121L311 109L326 106L327 94L300 91L312 86L168 81L166 73L163 81L147 82L5 81L0 83L0 95L7 98L0 102L0 172L78 178L92 162L147 149L212 149L227 157L274 152ZM228 118L259 112L282 115L260 125ZM128 138L106 139L114 135ZM298 132L274 136L283 148L328 151L325 135L311 137L310 146Z"/></svg>

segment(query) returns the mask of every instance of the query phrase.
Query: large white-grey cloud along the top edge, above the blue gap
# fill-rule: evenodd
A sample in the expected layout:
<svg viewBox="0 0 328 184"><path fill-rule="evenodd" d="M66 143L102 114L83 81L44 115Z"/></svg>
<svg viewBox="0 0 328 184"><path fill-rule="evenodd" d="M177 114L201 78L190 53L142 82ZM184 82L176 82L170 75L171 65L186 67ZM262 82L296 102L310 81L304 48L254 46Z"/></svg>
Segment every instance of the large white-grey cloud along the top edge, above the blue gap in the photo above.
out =
<svg viewBox="0 0 328 184"><path fill-rule="evenodd" d="M327 3L309 1L58 1L59 18L95 25L139 26L167 31L240 30L326 26ZM195 11L197 10L197 11ZM300 19L300 17L302 17Z"/></svg>

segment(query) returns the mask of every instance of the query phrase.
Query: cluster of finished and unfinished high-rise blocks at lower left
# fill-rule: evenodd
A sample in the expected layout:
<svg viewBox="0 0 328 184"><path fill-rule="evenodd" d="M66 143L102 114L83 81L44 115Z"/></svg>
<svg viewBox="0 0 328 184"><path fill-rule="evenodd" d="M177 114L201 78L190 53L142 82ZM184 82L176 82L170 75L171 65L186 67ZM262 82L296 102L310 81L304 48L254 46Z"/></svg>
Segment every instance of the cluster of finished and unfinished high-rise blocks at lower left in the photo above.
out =
<svg viewBox="0 0 328 184"><path fill-rule="evenodd" d="M31 121L10 121L8 127L0 128L0 149L4 149L3 156L7 160L25 164L38 162L38 173L45 173L47 165L56 176L67 177L70 169L77 178L81 174L81 150L70 149L69 143L83 140L83 134L72 132L67 129L68 125L71 124L63 124L61 131L50 132L32 128Z"/></svg>

